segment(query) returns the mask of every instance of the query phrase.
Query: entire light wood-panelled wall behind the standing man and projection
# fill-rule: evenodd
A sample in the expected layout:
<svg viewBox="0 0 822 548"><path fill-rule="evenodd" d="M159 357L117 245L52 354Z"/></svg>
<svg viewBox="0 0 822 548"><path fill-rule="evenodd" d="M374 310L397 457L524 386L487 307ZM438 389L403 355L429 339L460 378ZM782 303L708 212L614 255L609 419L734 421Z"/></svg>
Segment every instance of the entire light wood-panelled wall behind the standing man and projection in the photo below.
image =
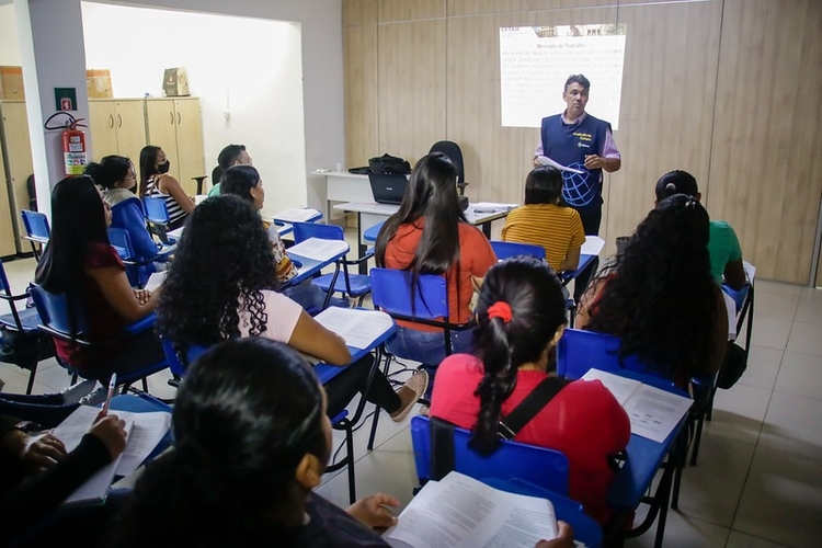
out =
<svg viewBox="0 0 822 548"><path fill-rule="evenodd" d="M521 201L538 129L500 125L499 27L609 22L628 35L608 249L652 207L659 175L685 169L760 276L808 283L822 195L818 0L343 0L346 164L413 162L447 138L472 199Z"/></svg>

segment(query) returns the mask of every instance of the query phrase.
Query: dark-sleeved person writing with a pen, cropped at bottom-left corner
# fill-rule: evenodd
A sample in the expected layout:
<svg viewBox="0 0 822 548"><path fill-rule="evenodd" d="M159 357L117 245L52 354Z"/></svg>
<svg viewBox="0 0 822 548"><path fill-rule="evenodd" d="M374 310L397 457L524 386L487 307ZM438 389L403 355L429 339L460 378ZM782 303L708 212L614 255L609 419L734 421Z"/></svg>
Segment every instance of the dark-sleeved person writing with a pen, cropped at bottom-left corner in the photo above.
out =
<svg viewBox="0 0 822 548"><path fill-rule="evenodd" d="M33 438L0 415L0 543L21 536L58 509L77 488L116 458L126 446L125 422L98 415L71 453L52 434ZM70 529L62 532L71 535ZM83 533L88 537L91 532ZM65 536L64 536L65 539ZM71 544L71 543L69 543Z"/></svg>

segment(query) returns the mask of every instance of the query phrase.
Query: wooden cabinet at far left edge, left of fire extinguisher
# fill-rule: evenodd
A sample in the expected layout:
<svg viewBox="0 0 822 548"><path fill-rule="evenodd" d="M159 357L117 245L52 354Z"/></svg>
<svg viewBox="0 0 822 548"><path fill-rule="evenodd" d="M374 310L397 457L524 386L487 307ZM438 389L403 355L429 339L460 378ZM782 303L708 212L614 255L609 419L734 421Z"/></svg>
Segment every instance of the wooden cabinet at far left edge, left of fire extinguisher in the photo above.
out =
<svg viewBox="0 0 822 548"><path fill-rule="evenodd" d="M2 140L3 161L5 163L4 179L9 190L9 208L11 221L16 227L14 243L21 253L31 251L27 240L24 240L25 228L20 212L28 209L28 189L26 180L34 173L32 162L32 146L28 138L28 119L26 118L24 101L0 101L0 115L2 124L0 125L0 137ZM2 204L0 204L0 217L2 217ZM0 227L3 226L0 219ZM5 240L8 232L3 228L3 236L0 239ZM4 253L0 253L4 254Z"/></svg>

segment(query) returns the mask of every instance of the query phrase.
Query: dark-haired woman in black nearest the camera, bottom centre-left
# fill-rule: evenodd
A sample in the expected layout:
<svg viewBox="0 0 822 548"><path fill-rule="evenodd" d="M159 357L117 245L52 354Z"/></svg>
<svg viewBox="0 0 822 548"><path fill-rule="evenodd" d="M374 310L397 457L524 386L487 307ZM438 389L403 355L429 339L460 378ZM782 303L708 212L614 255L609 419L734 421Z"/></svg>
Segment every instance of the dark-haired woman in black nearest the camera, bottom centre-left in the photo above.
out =
<svg viewBox="0 0 822 548"><path fill-rule="evenodd" d="M174 449L137 481L112 546L145 546L147 524L155 546L388 546L373 527L397 523L386 507L397 499L377 493L343 511L312 492L331 454L328 413L317 377L286 345L254 338L209 350L180 387Z"/></svg>

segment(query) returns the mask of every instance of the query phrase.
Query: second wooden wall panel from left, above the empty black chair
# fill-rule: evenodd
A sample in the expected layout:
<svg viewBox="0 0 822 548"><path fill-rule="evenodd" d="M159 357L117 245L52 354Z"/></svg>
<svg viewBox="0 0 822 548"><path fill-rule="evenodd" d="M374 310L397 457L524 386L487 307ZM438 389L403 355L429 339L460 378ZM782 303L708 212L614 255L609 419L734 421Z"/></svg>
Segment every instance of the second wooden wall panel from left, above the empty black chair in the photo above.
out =
<svg viewBox="0 0 822 548"><path fill-rule="evenodd" d="M413 164L445 135L445 19L380 25L377 33L378 153Z"/></svg>

